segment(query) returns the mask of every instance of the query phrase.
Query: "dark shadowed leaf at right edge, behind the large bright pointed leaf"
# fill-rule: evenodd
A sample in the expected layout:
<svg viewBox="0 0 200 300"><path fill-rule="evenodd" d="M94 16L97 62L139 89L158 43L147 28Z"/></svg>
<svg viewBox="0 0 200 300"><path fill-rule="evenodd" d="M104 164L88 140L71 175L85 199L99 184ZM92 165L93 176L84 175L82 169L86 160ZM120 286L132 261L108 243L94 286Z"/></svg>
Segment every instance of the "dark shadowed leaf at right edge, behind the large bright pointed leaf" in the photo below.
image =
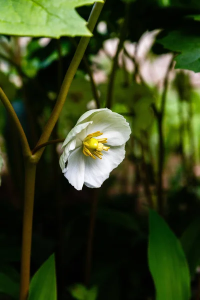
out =
<svg viewBox="0 0 200 300"><path fill-rule="evenodd" d="M196 218L183 232L180 242L187 257L190 275L195 274L195 269L200 261L200 219Z"/></svg>

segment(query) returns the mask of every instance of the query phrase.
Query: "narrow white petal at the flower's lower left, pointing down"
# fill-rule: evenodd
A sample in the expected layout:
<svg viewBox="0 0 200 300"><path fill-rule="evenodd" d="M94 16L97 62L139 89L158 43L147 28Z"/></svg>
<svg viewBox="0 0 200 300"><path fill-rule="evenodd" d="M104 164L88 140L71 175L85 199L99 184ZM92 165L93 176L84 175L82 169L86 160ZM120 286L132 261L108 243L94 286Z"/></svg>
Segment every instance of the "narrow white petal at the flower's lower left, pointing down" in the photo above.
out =
<svg viewBox="0 0 200 300"><path fill-rule="evenodd" d="M77 190L81 190L84 183L84 157L86 156L82 153L82 146L71 151L64 173L69 183Z"/></svg>

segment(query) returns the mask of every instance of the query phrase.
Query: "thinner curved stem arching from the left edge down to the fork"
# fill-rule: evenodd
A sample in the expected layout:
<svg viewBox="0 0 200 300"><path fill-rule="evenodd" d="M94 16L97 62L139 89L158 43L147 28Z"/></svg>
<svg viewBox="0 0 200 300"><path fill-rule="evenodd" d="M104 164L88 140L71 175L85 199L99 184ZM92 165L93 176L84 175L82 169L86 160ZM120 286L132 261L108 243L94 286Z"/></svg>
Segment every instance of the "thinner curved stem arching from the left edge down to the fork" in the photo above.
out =
<svg viewBox="0 0 200 300"><path fill-rule="evenodd" d="M21 146L22 146L22 150L23 150L23 155L24 156L30 156L31 155L31 151L30 151L30 147L28 145L28 141L27 138L25 136L25 133L23 131L23 128L21 126L21 123L16 115L16 112L14 111L14 108L12 107L10 101L8 100L7 96L5 95L4 91L2 90L2 88L0 87L0 99L3 103L3 105L5 106L5 109L7 110L9 116L11 117L11 119L13 120L16 129L18 131L20 140L21 140Z"/></svg>

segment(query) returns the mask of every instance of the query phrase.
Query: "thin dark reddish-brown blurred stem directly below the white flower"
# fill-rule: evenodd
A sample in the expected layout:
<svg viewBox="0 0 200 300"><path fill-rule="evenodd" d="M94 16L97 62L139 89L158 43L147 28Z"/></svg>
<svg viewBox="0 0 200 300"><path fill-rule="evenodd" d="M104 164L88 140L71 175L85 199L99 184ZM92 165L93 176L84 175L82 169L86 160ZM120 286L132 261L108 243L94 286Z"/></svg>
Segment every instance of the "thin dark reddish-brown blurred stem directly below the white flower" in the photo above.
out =
<svg viewBox="0 0 200 300"><path fill-rule="evenodd" d="M93 235L94 235L94 226L95 226L96 211L98 205L97 189L92 190L92 193L93 193L93 197L91 202L91 212L90 212L89 229L88 229L88 237L87 237L87 249L86 249L86 264L85 264L85 274L84 274L84 284L86 286L88 286L90 280Z"/></svg>

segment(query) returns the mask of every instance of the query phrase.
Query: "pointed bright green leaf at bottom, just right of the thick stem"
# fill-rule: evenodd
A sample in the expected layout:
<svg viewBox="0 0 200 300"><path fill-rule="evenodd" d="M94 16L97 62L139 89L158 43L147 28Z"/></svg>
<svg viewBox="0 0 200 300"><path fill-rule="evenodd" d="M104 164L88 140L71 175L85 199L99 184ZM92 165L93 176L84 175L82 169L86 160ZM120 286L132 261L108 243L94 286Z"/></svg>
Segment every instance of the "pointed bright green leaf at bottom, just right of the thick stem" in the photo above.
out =
<svg viewBox="0 0 200 300"><path fill-rule="evenodd" d="M54 254L40 266L30 282L28 300L46 299L57 299Z"/></svg>

